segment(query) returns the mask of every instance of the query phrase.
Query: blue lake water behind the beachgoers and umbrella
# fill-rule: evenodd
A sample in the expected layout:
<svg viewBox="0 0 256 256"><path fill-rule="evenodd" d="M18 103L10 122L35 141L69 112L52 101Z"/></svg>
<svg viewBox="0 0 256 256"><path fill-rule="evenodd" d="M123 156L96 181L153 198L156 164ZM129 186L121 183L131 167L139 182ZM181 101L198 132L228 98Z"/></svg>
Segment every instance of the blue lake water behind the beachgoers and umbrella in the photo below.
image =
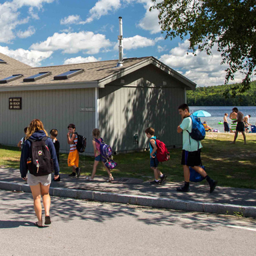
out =
<svg viewBox="0 0 256 256"><path fill-rule="evenodd" d="M204 110L211 114L211 117L201 117L201 122L207 121L207 124L214 129L218 129L221 133L224 132L224 126L219 125L218 122L223 122L223 117L225 113L230 114L232 112L233 107L189 107L189 111L191 113L197 110ZM243 113L243 115L251 115L249 119L249 123L255 125L256 123L256 107L237 107L239 111ZM231 125L231 119L229 116L227 117L227 121L229 122L229 127ZM251 129L251 127L250 127Z"/></svg>

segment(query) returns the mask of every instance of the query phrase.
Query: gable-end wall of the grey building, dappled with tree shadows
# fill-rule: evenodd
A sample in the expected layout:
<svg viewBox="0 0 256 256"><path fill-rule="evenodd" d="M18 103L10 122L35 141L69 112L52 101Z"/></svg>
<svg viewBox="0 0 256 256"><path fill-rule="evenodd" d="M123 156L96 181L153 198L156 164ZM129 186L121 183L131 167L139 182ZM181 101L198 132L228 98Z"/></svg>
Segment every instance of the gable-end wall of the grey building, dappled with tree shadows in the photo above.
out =
<svg viewBox="0 0 256 256"><path fill-rule="evenodd" d="M113 151L143 149L149 147L144 131L151 126L166 145L180 146L177 107L184 102L184 85L153 66L146 67L99 89L101 135ZM135 133L139 144L133 140Z"/></svg>

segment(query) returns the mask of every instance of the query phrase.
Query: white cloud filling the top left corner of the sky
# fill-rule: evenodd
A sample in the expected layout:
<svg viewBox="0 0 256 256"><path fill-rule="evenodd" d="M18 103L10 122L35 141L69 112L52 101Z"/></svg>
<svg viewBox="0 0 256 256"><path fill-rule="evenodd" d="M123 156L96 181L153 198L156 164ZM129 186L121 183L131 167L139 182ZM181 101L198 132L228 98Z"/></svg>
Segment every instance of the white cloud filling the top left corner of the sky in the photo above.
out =
<svg viewBox="0 0 256 256"><path fill-rule="evenodd" d="M15 39L15 29L21 24L29 22L30 18L38 19L33 8L41 9L43 3L52 3L55 0L13 0L0 4L0 42L11 43ZM19 9L28 7L28 16L19 18Z"/></svg>

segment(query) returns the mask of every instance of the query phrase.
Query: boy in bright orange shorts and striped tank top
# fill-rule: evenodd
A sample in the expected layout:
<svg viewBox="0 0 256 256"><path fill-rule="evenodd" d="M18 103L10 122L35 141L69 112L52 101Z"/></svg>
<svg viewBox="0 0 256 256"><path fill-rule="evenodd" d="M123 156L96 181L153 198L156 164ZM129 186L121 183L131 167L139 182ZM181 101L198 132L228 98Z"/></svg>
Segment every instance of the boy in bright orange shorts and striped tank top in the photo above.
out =
<svg viewBox="0 0 256 256"><path fill-rule="evenodd" d="M77 134L75 133L75 125L69 124L67 127L69 132L67 133L67 143L70 145L69 156L67 157L67 165L72 167L72 173L69 177L79 178L81 169L79 168L79 153L77 151Z"/></svg>

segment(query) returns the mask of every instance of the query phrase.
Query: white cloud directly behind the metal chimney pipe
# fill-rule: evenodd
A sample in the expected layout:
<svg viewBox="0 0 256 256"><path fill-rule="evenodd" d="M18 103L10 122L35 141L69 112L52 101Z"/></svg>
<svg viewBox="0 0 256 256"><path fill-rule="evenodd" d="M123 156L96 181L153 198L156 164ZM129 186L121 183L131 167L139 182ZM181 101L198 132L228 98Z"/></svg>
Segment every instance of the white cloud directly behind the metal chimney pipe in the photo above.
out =
<svg viewBox="0 0 256 256"><path fill-rule="evenodd" d="M155 45L154 40L148 39L147 37L141 37L141 35L135 35L134 37L125 37L123 39L123 48L125 50L149 47L153 45ZM118 43L115 45L114 49L118 49Z"/></svg>

